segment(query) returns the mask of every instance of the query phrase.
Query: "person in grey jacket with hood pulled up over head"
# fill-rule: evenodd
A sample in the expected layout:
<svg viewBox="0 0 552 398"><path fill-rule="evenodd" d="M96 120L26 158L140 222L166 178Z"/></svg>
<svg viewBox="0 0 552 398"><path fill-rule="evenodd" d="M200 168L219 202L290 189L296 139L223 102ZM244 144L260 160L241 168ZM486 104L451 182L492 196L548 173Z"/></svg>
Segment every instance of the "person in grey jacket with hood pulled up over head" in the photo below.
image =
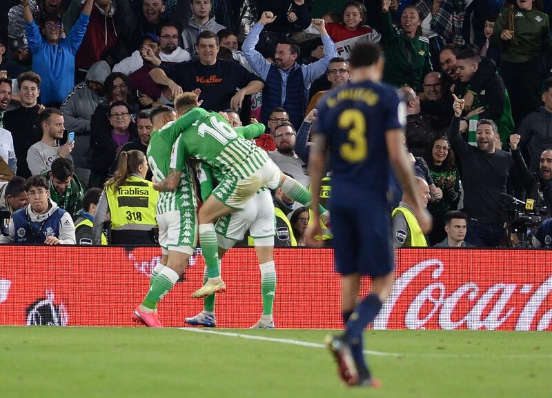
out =
<svg viewBox="0 0 552 398"><path fill-rule="evenodd" d="M99 61L90 66L86 81L71 90L61 104L66 130L75 132L75 148L72 158L75 163L75 174L83 186L88 186L90 179L90 119L92 113L103 99L103 82L111 73L106 61Z"/></svg>

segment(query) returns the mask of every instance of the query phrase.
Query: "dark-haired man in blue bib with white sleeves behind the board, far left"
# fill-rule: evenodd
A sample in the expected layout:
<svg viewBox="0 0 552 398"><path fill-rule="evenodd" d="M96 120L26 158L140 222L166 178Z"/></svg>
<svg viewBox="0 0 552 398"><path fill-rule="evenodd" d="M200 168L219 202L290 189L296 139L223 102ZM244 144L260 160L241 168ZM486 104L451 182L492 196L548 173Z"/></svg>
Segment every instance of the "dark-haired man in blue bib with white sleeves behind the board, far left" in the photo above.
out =
<svg viewBox="0 0 552 398"><path fill-rule="evenodd" d="M30 177L26 190L29 205L14 212L9 235L0 235L0 243L74 245L75 224L69 213L50 199L46 179Z"/></svg>

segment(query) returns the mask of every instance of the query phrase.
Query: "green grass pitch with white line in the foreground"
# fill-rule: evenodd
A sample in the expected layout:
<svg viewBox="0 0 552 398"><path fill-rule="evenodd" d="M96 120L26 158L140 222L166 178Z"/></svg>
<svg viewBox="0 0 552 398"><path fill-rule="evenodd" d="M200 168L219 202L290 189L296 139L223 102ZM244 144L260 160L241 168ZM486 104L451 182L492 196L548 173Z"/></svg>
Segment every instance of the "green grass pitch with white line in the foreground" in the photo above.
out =
<svg viewBox="0 0 552 398"><path fill-rule="evenodd" d="M551 397L546 332L365 332L377 390L348 388L326 330L0 327L0 397Z"/></svg>

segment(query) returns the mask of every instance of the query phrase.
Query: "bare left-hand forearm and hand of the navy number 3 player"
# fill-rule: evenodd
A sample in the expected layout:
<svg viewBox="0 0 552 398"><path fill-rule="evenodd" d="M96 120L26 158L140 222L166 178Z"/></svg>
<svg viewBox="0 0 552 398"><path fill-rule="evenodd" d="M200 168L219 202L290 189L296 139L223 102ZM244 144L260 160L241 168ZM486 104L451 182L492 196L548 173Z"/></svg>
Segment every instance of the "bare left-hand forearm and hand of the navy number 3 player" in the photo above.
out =
<svg viewBox="0 0 552 398"><path fill-rule="evenodd" d="M322 178L326 175L326 152L328 146L326 137L316 133L313 135L313 144L311 155L308 158L308 175L311 177L311 210L313 210L313 219L317 220L320 218L320 188L322 187ZM318 235L322 235L322 228L320 228L319 222L314 222L305 232L307 246L324 246L324 241L317 241L315 239Z"/></svg>

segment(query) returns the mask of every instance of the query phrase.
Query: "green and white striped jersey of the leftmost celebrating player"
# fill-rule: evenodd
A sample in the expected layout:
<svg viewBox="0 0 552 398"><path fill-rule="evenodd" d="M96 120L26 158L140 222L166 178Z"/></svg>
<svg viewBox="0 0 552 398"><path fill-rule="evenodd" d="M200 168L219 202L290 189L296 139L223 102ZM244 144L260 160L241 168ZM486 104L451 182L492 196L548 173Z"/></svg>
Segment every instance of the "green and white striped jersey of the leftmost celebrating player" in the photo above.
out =
<svg viewBox="0 0 552 398"><path fill-rule="evenodd" d="M165 179L171 169L181 172L180 183L175 190L159 192L156 207L157 214L196 207L193 182L190 177L191 171L188 163L186 163L187 155L182 150L183 146L179 143L181 131L181 124L177 119L167 123L161 130L152 131L150 135L146 155L155 179L157 181ZM177 150L177 148L180 148L180 150Z"/></svg>

